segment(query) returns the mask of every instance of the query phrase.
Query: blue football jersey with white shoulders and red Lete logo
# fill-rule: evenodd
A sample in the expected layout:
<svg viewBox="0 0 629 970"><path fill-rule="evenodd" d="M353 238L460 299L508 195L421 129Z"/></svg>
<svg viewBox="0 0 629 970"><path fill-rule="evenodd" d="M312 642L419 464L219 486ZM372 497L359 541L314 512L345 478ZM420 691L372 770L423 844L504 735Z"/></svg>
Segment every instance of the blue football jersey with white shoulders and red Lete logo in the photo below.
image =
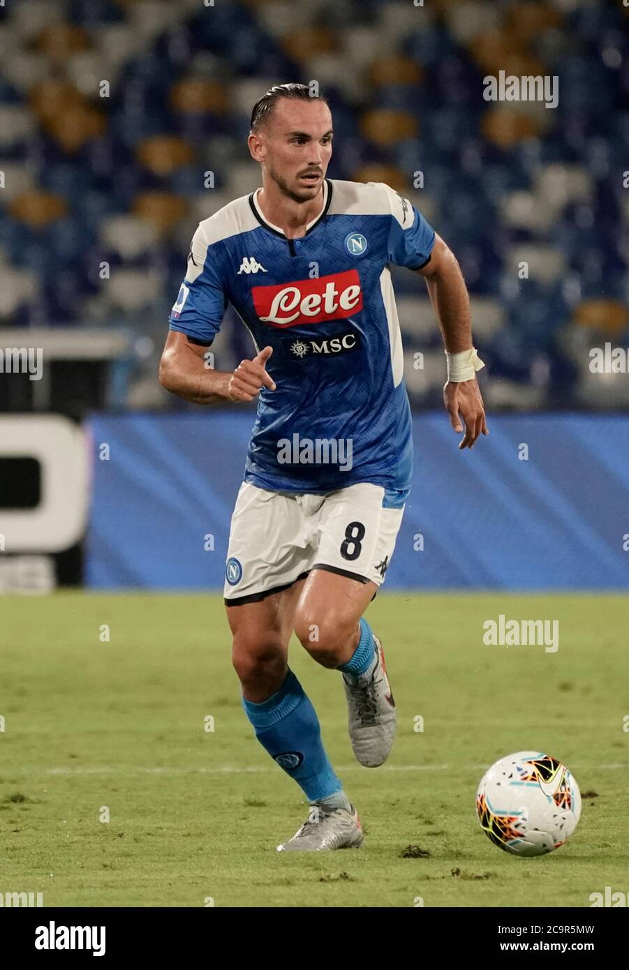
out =
<svg viewBox="0 0 629 970"><path fill-rule="evenodd" d="M258 190L259 191L259 190ZM256 352L270 345L245 481L322 493L411 485L411 408L389 265L426 264L435 232L382 182L326 179L301 239L269 224L257 191L199 224L170 329L210 345L229 302Z"/></svg>

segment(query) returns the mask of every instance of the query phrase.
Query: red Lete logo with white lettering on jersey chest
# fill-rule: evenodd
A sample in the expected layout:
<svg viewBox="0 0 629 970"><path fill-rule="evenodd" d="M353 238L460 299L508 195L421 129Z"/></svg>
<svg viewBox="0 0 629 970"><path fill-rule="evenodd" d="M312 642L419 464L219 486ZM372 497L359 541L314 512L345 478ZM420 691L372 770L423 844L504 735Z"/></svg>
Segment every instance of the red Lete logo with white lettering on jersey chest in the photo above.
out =
<svg viewBox="0 0 629 970"><path fill-rule="evenodd" d="M277 286L254 286L251 297L260 320L272 327L342 320L363 306L356 270Z"/></svg>

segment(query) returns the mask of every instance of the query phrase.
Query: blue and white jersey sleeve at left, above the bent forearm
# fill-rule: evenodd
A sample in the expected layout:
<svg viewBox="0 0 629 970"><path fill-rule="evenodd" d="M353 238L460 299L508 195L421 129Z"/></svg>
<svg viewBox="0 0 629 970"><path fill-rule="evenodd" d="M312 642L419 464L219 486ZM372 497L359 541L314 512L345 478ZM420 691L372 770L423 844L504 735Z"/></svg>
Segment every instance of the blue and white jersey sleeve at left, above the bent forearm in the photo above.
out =
<svg viewBox="0 0 629 970"><path fill-rule="evenodd" d="M192 237L185 278L168 318L170 330L210 346L220 330L226 307L219 268L200 224Z"/></svg>

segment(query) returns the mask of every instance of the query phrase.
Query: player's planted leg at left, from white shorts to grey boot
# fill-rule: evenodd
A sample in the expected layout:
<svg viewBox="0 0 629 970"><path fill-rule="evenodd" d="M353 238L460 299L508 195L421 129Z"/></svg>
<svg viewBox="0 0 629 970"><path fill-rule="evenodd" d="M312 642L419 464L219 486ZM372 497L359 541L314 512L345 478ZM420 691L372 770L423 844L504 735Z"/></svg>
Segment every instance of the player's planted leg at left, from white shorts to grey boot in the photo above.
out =
<svg viewBox="0 0 629 970"><path fill-rule="evenodd" d="M248 720L315 810L315 818L279 848L333 849L359 845L362 833L323 748L315 708L287 665L299 577L307 566L302 526L294 497L243 486L232 518L225 603Z"/></svg>

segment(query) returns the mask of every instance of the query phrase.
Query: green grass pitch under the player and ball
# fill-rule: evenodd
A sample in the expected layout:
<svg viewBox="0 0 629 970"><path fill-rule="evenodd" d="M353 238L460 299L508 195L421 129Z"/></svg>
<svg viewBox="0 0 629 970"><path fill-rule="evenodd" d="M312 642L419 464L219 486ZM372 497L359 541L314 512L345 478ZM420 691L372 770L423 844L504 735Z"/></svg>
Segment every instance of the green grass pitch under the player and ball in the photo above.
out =
<svg viewBox="0 0 629 970"><path fill-rule="evenodd" d="M483 645L500 613L558 620L558 651ZM627 599L382 593L367 615L399 717L381 768L353 760L340 675L290 651L365 843L281 855L308 809L245 718L221 598L3 598L0 892L42 891L44 906L582 907L629 891ZM483 770L525 749L565 761L585 794L570 842L534 859L492 846L475 812Z"/></svg>

